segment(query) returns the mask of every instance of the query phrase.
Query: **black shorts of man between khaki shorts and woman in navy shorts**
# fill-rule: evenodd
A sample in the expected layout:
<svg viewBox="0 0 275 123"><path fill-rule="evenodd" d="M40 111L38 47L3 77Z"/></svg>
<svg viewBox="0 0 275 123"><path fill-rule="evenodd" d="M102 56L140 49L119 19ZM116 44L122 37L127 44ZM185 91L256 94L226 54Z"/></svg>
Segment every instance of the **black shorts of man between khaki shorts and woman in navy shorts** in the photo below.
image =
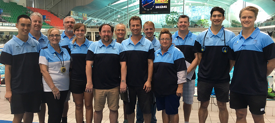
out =
<svg viewBox="0 0 275 123"><path fill-rule="evenodd" d="M126 104L126 114L132 114L135 112L136 108L136 97L139 102L139 107L142 113L150 114L151 113L151 104L153 104L153 93L152 91L146 93L143 86L134 87L128 86L129 100L130 102Z"/></svg>

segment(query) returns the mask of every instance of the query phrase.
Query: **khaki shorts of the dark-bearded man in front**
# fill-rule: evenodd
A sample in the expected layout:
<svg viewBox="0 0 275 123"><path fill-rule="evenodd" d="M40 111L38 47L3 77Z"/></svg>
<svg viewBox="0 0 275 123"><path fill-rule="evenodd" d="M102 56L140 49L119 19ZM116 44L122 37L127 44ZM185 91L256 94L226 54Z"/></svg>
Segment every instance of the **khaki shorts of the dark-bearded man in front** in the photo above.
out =
<svg viewBox="0 0 275 123"><path fill-rule="evenodd" d="M117 86L112 89L95 89L93 88L93 99L95 111L101 111L104 109L107 97L107 104L110 110L116 111L119 109L119 89Z"/></svg>

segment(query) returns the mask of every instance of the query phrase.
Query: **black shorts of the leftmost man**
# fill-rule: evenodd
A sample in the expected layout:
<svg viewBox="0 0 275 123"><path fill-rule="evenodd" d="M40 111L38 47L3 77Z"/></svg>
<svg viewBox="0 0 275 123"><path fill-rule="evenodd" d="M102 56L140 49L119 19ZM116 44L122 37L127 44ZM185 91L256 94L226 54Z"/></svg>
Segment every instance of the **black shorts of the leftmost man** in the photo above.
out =
<svg viewBox="0 0 275 123"><path fill-rule="evenodd" d="M11 114L22 114L25 112L38 113L41 105L41 91L23 94L12 94Z"/></svg>

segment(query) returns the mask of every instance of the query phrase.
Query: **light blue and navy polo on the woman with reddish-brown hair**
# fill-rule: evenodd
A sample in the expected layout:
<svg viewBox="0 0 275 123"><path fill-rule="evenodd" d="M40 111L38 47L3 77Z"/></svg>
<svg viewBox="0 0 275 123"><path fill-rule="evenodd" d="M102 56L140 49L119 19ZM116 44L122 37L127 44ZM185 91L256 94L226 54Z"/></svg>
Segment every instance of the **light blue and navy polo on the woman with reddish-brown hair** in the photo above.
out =
<svg viewBox="0 0 275 123"><path fill-rule="evenodd" d="M176 94L178 89L177 72L187 70L182 51L172 44L163 55L161 49L158 49L154 55L152 87L155 96L163 97Z"/></svg>

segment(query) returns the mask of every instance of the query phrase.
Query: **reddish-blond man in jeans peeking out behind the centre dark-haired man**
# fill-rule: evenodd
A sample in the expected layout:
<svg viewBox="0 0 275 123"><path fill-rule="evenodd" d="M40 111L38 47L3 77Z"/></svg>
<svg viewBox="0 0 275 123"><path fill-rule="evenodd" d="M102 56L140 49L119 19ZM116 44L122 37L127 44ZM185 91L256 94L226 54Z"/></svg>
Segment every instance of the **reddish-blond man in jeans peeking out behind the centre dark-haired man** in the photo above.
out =
<svg viewBox="0 0 275 123"><path fill-rule="evenodd" d="M160 41L156 39L154 36L155 32L155 25L152 21L147 21L143 24L143 32L145 33L145 38L152 42L154 46L154 51L157 51L160 49ZM156 112L157 112L157 106L155 103L155 96L153 95L154 103L151 106L151 123L156 123ZM143 114L139 108L139 103L136 103L136 123L143 123Z"/></svg>

